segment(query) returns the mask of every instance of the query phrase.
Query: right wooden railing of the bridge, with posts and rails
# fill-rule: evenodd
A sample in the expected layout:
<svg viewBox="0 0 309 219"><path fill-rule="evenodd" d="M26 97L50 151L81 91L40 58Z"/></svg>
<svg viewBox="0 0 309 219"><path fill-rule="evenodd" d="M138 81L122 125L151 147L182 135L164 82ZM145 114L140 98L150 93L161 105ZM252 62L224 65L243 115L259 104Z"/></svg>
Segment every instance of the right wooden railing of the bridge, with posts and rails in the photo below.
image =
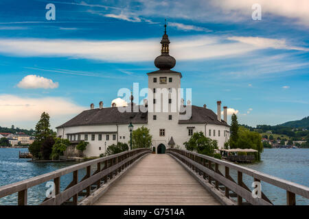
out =
<svg viewBox="0 0 309 219"><path fill-rule="evenodd" d="M243 199L251 205L273 205L273 203L267 198L267 196L261 192L261 196L253 197L251 190L243 181L243 175L249 175L253 177L253 181L264 181L271 185L275 185L278 188L286 190L286 204L295 205L295 194L309 198L309 188L304 185L299 185L278 177L264 174L257 170L245 168L243 166L226 162L221 159L201 155L191 151L185 151L180 149L167 149L166 153L176 157L176 159L183 164L188 170L194 173L200 179L201 183L205 183L207 188L214 190L216 194L222 195L222 200L225 200L227 204L242 205ZM219 168L220 166L220 168ZM220 169L224 169L222 173ZM237 181L235 181L231 175L230 170L237 171ZM231 198L232 194L237 195L237 201Z"/></svg>

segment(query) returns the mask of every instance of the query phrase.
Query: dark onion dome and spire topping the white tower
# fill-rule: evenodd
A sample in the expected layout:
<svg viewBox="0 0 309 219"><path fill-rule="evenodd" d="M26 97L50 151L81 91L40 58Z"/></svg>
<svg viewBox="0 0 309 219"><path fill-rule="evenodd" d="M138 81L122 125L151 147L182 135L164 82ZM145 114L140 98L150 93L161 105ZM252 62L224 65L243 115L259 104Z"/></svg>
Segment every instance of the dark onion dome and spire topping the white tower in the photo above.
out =
<svg viewBox="0 0 309 219"><path fill-rule="evenodd" d="M170 50L168 48L168 45L170 44L170 40L168 39L168 34L166 34L166 19L165 19L165 25L164 25L164 34L162 36L161 40L161 55L156 57L155 59L155 66L157 68L163 69L170 69L174 68L176 64L176 60L174 57L170 56Z"/></svg>

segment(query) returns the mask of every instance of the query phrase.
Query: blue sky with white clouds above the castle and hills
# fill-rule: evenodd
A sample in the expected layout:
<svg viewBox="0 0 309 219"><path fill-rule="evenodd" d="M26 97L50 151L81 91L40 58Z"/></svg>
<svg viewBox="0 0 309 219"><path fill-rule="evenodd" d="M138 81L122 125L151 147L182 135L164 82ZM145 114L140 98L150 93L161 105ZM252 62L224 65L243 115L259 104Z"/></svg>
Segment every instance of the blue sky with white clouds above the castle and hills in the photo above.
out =
<svg viewBox="0 0 309 219"><path fill-rule="evenodd" d="M0 126L34 129L48 112L54 129L91 103L110 107L120 88L146 88L165 18L192 105L216 112L220 100L251 126L309 116L307 0L1 0Z"/></svg>

